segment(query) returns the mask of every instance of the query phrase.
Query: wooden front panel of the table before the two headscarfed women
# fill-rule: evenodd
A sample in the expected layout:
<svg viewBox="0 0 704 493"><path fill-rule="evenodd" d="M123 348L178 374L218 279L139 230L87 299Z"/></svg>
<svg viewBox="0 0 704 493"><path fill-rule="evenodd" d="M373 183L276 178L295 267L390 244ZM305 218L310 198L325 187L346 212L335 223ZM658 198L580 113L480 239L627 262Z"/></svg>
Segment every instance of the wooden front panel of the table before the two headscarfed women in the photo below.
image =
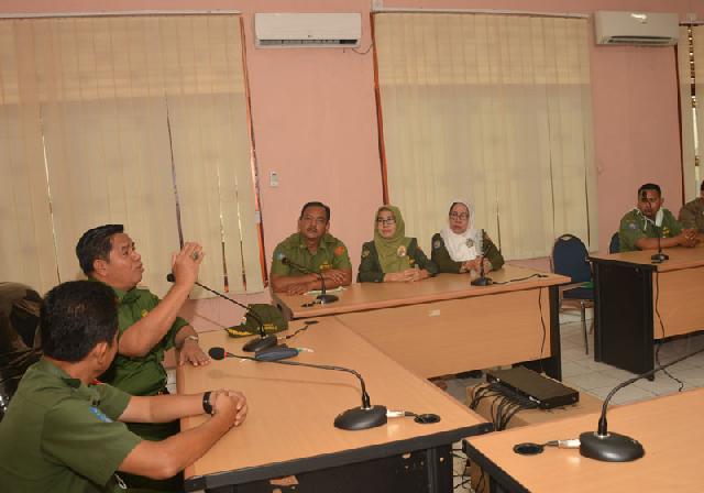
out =
<svg viewBox="0 0 704 493"><path fill-rule="evenodd" d="M350 313L337 318L424 377L551 355L546 288Z"/></svg>

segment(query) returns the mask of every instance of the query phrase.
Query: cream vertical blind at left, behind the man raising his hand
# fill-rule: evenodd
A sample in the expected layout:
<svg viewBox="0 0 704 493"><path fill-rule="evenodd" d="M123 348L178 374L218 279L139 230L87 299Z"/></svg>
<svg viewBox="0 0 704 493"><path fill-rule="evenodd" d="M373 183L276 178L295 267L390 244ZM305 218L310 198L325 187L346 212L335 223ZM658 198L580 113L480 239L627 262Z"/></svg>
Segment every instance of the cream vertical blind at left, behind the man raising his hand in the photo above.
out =
<svg viewBox="0 0 704 493"><path fill-rule="evenodd" d="M156 293L179 229L201 282L263 289L244 84L238 15L0 21L2 278L79 278L78 238L117 222Z"/></svg>

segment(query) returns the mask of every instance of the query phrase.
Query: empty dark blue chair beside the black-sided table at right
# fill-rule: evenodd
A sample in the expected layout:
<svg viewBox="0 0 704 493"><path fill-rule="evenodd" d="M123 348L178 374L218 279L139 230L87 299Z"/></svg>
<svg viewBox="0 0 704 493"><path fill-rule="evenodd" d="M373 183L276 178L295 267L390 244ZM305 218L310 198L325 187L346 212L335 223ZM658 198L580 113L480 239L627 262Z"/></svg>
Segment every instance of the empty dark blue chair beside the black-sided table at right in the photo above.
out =
<svg viewBox="0 0 704 493"><path fill-rule="evenodd" d="M594 285L592 269L587 261L588 252L582 240L573 234L562 234L552 245L552 272L572 278L572 283L560 287L559 306L565 302L578 303L582 315L584 331L584 349L590 353L588 333L586 330L586 308L594 306Z"/></svg>

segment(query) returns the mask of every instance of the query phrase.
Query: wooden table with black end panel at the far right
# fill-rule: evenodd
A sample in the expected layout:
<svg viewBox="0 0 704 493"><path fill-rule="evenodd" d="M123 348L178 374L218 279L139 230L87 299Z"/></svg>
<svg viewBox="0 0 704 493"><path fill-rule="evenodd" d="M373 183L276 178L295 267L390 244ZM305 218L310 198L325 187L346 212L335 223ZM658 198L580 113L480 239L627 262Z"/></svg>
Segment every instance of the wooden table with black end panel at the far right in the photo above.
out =
<svg viewBox="0 0 704 493"><path fill-rule="evenodd" d="M591 255L594 266L594 359L645 373L654 340L704 330L704 245ZM659 314L659 316L658 316Z"/></svg>

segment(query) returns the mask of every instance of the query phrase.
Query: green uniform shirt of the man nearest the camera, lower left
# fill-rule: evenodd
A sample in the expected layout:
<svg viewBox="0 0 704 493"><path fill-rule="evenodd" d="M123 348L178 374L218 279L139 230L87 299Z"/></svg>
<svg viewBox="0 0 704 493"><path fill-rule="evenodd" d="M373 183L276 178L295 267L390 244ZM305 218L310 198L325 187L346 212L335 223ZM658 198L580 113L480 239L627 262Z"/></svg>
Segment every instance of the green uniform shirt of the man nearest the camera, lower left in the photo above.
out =
<svg viewBox="0 0 704 493"><path fill-rule="evenodd" d="M117 421L129 402L45 359L30 366L0 423L0 491L123 492L113 474L141 441Z"/></svg>

